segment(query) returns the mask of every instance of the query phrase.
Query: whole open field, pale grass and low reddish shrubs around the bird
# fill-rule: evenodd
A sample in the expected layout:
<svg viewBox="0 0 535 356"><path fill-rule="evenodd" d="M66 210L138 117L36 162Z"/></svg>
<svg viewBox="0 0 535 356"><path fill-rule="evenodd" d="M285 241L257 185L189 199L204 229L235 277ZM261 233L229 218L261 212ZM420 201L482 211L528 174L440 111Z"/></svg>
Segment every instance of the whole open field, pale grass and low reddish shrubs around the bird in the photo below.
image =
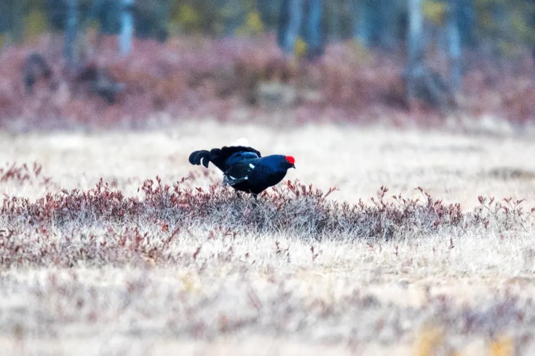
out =
<svg viewBox="0 0 535 356"><path fill-rule="evenodd" d="M211 199L219 173L187 156L242 137L339 191ZM532 137L204 122L0 134L0 152L0 354L535 353ZM139 189L156 175L190 179Z"/></svg>

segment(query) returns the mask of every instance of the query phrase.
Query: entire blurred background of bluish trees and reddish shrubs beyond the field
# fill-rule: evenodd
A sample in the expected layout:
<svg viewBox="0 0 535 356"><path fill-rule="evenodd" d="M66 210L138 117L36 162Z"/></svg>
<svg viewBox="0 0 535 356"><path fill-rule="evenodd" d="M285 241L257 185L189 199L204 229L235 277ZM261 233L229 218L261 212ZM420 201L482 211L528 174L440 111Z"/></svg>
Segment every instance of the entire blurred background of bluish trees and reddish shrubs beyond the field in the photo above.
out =
<svg viewBox="0 0 535 356"><path fill-rule="evenodd" d="M533 0L3 0L0 127L523 132L534 56Z"/></svg>

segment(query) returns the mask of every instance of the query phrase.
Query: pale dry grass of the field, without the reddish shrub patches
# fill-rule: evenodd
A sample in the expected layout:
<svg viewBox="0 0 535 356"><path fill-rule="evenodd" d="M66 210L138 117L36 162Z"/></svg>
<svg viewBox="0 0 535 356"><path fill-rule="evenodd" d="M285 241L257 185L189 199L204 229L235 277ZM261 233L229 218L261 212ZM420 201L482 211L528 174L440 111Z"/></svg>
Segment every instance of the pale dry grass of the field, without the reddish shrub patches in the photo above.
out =
<svg viewBox="0 0 535 356"><path fill-rule="evenodd" d="M146 179L173 183L200 171L187 162L192 150L240 138L265 155L294 156L288 179L337 187L330 198L339 201L368 200L386 185L388 194L407 197L422 187L463 211L479 195L535 206L533 137L326 125L0 134L4 167L42 165L36 178L0 182L0 192L33 200L89 189L103 177L140 196ZM206 188L209 179L189 184ZM0 218L0 229L11 224ZM22 227L45 235L43 227ZM139 221L44 228L51 238L69 238L67 251L87 236L132 227L156 247L174 228ZM535 354L533 232L530 220L518 229L438 229L370 242L186 227L173 236L165 263L134 254L126 263L2 266L0 354Z"/></svg>

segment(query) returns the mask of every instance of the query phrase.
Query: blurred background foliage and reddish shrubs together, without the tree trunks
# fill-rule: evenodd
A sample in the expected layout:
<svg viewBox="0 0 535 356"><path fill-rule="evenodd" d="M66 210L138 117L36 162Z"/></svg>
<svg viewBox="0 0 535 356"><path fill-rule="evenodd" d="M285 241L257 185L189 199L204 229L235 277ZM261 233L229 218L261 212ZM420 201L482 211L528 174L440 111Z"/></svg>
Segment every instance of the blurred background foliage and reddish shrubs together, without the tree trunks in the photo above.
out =
<svg viewBox="0 0 535 356"><path fill-rule="evenodd" d="M452 24L446 21L451 19L453 9L450 0L422 1L425 42L436 43L439 50L447 51L445 25ZM502 63L501 57L510 59L522 54L524 57L518 58L525 58L526 50L535 49L535 0L457 2L454 14L462 43L482 50L475 52L477 66L470 63L470 55L463 63L463 109L474 116L498 112L511 122L533 120L535 88L531 82L519 80L532 69L527 64L510 66L514 67L510 71L517 72L502 73L496 71L495 64ZM328 114L335 117L366 120L377 117L377 110L388 113L409 108L402 74L406 58L401 54L406 51L407 0L303 0L302 21L293 27L291 36L280 36L291 38L284 52L272 35L283 27L279 21L284 24L279 13L281 3L282 0L135 0L135 36L160 42L169 36L174 38L169 44L136 41L135 50L125 61L117 56L117 39L104 36L120 31L122 1L78 0L81 34L77 51L83 53L98 43L98 50L91 54L99 65L109 66L128 90L112 107L102 109L102 103L89 92L50 89L55 99L41 96L35 118L69 117L75 113L80 121L101 116L112 121L125 116L147 117L154 111L180 110L224 117L235 105L234 100L263 105L273 91L276 97L286 97L281 92L288 93L287 89L293 91L287 95L293 98L288 102L299 107L303 115L314 118L319 118L324 108L334 110ZM4 90L0 90L0 101L5 103L0 105L0 117L20 116L33 105L32 100L41 100L37 96L21 99L19 95L20 68L32 52L48 52L46 59L59 82L71 80L61 68L62 52L50 51L50 41L35 41L49 31L62 35L66 11L67 0L0 1L0 46L14 53L3 56L5 65L0 66L0 84L4 83L0 85ZM281 12L289 18L289 11ZM204 37L201 41L200 36ZM9 46L24 41L29 45ZM309 52L316 49L321 52L320 60L292 58L314 58ZM435 55L432 50L426 54L430 61L436 60L431 58ZM437 60L434 65L447 71L444 61ZM281 85L267 88L266 82ZM422 111L417 120L429 121L430 117L433 114Z"/></svg>

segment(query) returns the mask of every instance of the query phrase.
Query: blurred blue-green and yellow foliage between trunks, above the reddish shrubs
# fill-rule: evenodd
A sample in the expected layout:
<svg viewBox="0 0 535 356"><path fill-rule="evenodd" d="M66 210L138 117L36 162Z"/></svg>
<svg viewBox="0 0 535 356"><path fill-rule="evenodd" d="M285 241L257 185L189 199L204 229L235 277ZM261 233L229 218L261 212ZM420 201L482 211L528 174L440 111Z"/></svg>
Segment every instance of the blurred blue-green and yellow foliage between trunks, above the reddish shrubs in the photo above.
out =
<svg viewBox="0 0 535 356"><path fill-rule="evenodd" d="M535 49L534 0L457 0L458 26L464 44L483 44L496 55L515 56ZM257 36L278 27L282 0L136 0L135 35L165 41L169 35ZM430 36L445 27L450 0L423 0ZM307 4L304 0L304 4ZM305 5L306 7L307 5ZM0 2L2 42L32 41L65 27L67 0ZM78 0L80 28L102 34L120 30L120 0ZM302 27L306 21L303 21ZM366 46L388 50L406 40L407 0L323 1L322 27L328 41L358 37ZM301 30L301 40L307 41ZM433 41L433 39L431 39ZM306 44L305 44L306 45ZM294 50L302 50L296 43Z"/></svg>

